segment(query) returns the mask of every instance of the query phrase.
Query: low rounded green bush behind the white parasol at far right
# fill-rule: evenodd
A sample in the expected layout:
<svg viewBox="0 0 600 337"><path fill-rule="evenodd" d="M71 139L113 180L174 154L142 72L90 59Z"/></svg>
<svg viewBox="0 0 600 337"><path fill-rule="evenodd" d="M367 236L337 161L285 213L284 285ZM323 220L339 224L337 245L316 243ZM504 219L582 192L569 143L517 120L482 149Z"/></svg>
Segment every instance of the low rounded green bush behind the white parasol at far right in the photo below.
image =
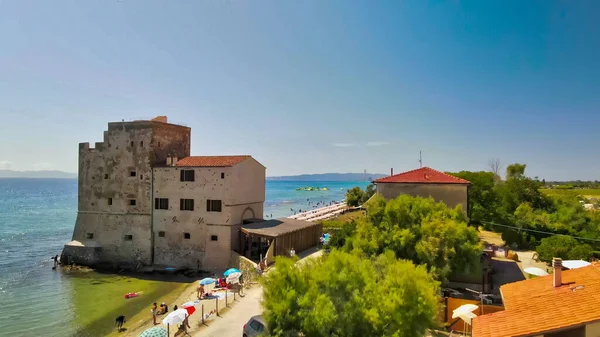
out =
<svg viewBox="0 0 600 337"><path fill-rule="evenodd" d="M568 260L588 260L592 256L592 247L582 244L570 236L553 235L542 239L536 252L540 260L548 263L555 257Z"/></svg>

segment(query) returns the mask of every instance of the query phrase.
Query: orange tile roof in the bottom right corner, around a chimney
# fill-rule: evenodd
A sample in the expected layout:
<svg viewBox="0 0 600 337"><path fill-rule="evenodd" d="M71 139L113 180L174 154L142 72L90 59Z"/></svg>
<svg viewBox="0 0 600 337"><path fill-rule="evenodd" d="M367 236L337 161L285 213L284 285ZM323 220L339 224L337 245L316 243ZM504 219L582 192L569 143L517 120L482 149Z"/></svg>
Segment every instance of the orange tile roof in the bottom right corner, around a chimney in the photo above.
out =
<svg viewBox="0 0 600 337"><path fill-rule="evenodd" d="M562 286L553 275L500 287L505 311L473 319L473 337L542 335L600 320L598 265L562 271Z"/></svg>

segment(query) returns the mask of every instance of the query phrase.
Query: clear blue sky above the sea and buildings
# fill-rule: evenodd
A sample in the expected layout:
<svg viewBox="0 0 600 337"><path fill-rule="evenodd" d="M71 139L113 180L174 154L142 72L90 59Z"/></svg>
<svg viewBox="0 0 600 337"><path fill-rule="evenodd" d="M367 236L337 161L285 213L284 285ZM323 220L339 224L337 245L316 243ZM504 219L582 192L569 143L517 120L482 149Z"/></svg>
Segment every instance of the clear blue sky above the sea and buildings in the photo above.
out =
<svg viewBox="0 0 600 337"><path fill-rule="evenodd" d="M168 115L268 175L600 179L600 1L0 0L0 168Z"/></svg>

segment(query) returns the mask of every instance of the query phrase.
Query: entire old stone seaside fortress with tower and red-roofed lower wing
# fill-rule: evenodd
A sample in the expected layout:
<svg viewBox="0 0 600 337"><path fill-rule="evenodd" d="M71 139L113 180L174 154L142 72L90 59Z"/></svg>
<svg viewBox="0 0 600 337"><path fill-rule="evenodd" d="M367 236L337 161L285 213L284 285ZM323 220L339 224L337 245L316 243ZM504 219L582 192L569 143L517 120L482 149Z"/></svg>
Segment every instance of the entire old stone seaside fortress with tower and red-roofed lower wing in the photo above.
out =
<svg viewBox="0 0 600 337"><path fill-rule="evenodd" d="M225 268L244 219L262 218L266 169L251 156L190 157L167 118L109 123L79 144L78 213L63 258L81 265Z"/></svg>

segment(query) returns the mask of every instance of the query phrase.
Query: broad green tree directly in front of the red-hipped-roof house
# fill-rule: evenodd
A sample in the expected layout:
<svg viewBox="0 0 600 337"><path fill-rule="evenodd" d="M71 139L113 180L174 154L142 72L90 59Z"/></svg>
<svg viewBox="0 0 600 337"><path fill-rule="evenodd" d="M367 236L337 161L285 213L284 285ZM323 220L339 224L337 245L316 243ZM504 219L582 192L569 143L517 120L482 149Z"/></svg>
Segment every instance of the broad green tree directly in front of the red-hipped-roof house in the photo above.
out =
<svg viewBox="0 0 600 337"><path fill-rule="evenodd" d="M452 271L470 271L479 260L477 231L465 220L460 207L450 209L432 198L376 196L344 249L370 257L391 250L398 258L427 265L444 281Z"/></svg>

